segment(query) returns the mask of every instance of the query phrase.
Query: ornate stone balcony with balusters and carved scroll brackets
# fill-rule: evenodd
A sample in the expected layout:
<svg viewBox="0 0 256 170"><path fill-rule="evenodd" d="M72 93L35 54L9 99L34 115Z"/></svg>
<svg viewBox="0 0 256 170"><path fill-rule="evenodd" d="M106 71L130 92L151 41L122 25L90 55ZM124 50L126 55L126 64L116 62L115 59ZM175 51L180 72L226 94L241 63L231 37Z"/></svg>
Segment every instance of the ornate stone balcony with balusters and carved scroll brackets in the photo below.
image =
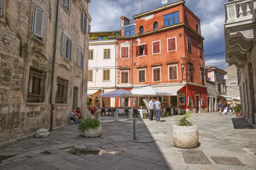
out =
<svg viewBox="0 0 256 170"><path fill-rule="evenodd" d="M256 38L256 0L230 0L225 3L226 61L243 68Z"/></svg>

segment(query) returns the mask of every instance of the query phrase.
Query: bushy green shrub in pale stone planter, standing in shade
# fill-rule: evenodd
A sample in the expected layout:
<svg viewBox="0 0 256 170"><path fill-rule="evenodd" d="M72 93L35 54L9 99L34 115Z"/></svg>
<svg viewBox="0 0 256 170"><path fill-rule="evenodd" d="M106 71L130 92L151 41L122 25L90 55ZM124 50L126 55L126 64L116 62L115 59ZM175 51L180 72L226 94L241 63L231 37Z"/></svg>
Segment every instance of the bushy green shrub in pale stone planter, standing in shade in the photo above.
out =
<svg viewBox="0 0 256 170"><path fill-rule="evenodd" d="M88 117L89 118L81 121L77 127L80 135L90 138L102 136L102 127L100 125L99 119L92 119L89 115Z"/></svg>

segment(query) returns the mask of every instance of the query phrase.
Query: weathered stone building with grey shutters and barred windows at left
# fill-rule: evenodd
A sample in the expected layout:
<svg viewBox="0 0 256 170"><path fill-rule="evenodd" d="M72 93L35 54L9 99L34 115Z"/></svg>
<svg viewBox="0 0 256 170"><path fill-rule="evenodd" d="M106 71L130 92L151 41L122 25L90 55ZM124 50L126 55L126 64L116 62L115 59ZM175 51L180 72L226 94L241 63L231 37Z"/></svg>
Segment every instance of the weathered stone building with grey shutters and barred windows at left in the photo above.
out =
<svg viewBox="0 0 256 170"><path fill-rule="evenodd" d="M0 0L0 142L87 112L89 2Z"/></svg>

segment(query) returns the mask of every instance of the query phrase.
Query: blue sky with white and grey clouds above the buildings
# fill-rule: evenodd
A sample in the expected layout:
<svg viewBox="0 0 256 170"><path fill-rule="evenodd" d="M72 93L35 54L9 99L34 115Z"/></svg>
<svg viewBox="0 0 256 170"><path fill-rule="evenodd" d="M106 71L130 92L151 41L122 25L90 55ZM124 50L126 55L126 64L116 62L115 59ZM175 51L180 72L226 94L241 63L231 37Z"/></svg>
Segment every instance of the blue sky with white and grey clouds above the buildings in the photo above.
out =
<svg viewBox="0 0 256 170"><path fill-rule="evenodd" d="M143 0L143 12L163 6L162 0ZM168 0L166 4L177 2ZM186 6L201 20L201 34L204 40L204 55L206 66L216 66L224 69L225 51L224 3L228 0L185 0ZM121 30L121 19L124 15L129 19L141 13L141 0L91 0L89 14L92 18L91 31L114 31ZM133 20L131 20L133 22Z"/></svg>

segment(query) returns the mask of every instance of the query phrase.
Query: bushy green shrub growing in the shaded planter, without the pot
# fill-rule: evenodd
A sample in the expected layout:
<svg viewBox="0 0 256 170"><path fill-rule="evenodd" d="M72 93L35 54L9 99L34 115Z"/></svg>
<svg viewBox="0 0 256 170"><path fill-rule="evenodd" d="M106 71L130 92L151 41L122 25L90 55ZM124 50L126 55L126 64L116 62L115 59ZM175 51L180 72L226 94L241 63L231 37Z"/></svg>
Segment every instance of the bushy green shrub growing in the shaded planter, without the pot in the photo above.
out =
<svg viewBox="0 0 256 170"><path fill-rule="evenodd" d="M81 132L84 132L84 130L88 130L90 128L97 129L99 126L100 126L99 119L96 119L96 118L92 119L91 117L89 117L81 121L77 129Z"/></svg>

